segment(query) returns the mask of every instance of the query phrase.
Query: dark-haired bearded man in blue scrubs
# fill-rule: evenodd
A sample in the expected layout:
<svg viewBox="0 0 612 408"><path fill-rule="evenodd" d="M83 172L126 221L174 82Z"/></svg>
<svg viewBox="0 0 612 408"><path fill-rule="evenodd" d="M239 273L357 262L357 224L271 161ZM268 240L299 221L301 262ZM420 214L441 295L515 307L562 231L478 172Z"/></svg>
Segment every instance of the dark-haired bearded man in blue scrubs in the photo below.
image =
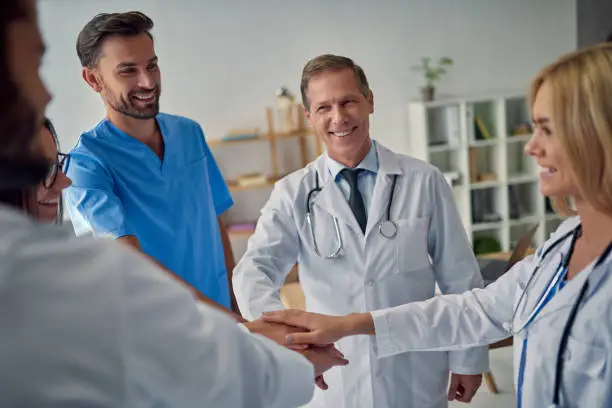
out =
<svg viewBox="0 0 612 408"><path fill-rule="evenodd" d="M77 234L118 239L204 301L238 313L219 218L233 201L199 124L159 112L152 28L139 12L99 14L78 36L83 79L102 97L106 117L70 153L70 216Z"/></svg>

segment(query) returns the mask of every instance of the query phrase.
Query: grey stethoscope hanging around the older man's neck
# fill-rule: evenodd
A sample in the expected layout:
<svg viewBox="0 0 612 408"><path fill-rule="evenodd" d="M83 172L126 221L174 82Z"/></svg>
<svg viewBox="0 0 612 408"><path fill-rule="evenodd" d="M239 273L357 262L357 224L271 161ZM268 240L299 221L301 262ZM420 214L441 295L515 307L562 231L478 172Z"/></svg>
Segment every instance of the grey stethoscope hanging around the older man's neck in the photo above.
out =
<svg viewBox="0 0 612 408"><path fill-rule="evenodd" d="M394 174L393 181L391 184L391 196L389 197L389 201L387 202L387 216L385 217L383 222L380 223L378 227L378 232L380 233L380 235L382 235L383 237L387 239L393 239L397 235L397 224L391 220L391 205L393 204L393 195L395 193L396 183L397 183L397 174ZM342 234L340 234L340 225L338 224L338 219L332 216L333 223L334 223L334 230L336 233L337 246L329 254L321 255L321 252L319 250L319 245L317 244L317 238L315 236L314 224L312 221L313 212L312 212L312 200L311 199L312 199L313 194L321 192L322 189L323 188L319 184L319 171L317 170L315 171L315 187L312 188L308 192L308 195L306 196L306 221L308 222L308 227L310 229L310 236L312 238L312 244L313 244L314 251L317 254L317 256L322 257L322 258L328 258L328 259L337 258L342 254L342 248L344 246L342 242Z"/></svg>

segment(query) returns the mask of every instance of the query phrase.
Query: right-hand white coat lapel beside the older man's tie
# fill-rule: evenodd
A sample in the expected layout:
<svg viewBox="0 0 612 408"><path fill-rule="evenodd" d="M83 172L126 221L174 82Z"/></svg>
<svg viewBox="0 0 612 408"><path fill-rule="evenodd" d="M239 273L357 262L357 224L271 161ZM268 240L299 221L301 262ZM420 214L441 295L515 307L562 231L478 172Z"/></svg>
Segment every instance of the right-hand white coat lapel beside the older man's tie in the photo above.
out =
<svg viewBox="0 0 612 408"><path fill-rule="evenodd" d="M400 167L399 159L395 153L388 150L380 143L376 145L378 153L378 174L376 175L376 183L374 184L374 191L372 193L372 201L368 210L368 224L366 227L366 236L372 231L378 231L378 226L382 219L387 217L387 207L389 199L393 193L393 203L391 208L391 219L393 220L393 207L399 205L400 197L398 194L398 185L400 184L400 177L398 177L395 184L395 191L391 191L393 185L392 180L395 175L401 176L402 169ZM397 212L395 212L397 214Z"/></svg>

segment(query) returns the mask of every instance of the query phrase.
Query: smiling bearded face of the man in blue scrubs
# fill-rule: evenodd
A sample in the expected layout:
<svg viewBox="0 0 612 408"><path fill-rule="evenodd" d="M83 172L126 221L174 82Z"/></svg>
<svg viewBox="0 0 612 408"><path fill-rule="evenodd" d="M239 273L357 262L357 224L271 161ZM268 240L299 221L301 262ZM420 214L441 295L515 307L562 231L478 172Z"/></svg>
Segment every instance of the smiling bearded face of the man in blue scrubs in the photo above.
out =
<svg viewBox="0 0 612 408"><path fill-rule="evenodd" d="M159 113L161 74L146 33L106 38L98 64L84 68L83 77L112 111L136 119Z"/></svg>

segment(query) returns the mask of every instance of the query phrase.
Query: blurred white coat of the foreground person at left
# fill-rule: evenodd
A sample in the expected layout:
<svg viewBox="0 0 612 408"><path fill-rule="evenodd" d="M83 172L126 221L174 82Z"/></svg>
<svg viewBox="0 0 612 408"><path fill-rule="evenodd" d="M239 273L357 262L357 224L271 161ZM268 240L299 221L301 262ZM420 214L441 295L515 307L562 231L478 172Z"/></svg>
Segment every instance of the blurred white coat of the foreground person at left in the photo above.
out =
<svg viewBox="0 0 612 408"><path fill-rule="evenodd" d="M295 407L314 369L120 244L0 206L0 407Z"/></svg>

